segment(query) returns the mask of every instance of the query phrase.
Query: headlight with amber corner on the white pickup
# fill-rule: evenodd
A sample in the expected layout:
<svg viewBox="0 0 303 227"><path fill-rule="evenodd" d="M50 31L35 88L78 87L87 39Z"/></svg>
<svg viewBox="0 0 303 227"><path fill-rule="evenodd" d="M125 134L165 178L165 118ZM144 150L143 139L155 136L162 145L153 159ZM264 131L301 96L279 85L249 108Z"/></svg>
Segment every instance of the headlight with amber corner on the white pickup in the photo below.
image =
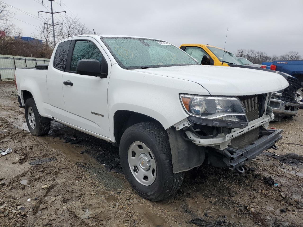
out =
<svg viewBox="0 0 303 227"><path fill-rule="evenodd" d="M245 108L237 97L180 94L180 100L194 123L230 128L248 125Z"/></svg>

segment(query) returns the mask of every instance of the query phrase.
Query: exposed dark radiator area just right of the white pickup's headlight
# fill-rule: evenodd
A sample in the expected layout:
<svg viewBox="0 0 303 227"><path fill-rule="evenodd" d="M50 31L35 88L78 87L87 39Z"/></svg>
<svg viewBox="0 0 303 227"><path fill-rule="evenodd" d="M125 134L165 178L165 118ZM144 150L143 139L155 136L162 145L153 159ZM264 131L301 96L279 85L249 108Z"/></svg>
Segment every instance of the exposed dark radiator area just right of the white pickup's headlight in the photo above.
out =
<svg viewBox="0 0 303 227"><path fill-rule="evenodd" d="M242 105L246 110L246 117L248 121L257 119L258 116L258 95L238 96Z"/></svg>

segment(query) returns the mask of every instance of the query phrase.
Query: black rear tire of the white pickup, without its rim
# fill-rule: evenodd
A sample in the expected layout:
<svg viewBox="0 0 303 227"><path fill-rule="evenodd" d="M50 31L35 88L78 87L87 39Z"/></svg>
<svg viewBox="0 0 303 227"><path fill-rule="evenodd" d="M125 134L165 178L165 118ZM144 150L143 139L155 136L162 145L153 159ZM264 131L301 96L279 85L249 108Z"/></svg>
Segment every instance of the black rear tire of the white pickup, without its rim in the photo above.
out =
<svg viewBox="0 0 303 227"><path fill-rule="evenodd" d="M29 120L28 120L28 108L29 107L32 107L32 110L35 113L36 126L34 129L31 127L31 125L29 124ZM32 133L35 136L46 135L51 128L51 122L49 122L49 121L42 122L42 118L39 114L39 111L37 109L34 98L28 98L26 100L24 110L25 110L25 119L26 119L27 127L28 127L28 130L30 131L30 133Z"/></svg>

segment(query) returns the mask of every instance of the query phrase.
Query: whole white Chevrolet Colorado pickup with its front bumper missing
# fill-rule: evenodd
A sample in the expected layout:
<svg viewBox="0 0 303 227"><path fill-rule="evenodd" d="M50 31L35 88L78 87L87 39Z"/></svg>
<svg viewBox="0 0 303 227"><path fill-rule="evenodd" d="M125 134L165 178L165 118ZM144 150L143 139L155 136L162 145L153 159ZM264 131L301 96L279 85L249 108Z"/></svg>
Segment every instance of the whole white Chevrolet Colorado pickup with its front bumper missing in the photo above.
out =
<svg viewBox="0 0 303 227"><path fill-rule="evenodd" d="M288 86L278 74L203 66L163 40L117 35L64 39L49 65L16 69L15 80L33 135L55 120L119 146L126 179L153 201L203 162L243 172L276 148L282 129L266 129L268 97Z"/></svg>

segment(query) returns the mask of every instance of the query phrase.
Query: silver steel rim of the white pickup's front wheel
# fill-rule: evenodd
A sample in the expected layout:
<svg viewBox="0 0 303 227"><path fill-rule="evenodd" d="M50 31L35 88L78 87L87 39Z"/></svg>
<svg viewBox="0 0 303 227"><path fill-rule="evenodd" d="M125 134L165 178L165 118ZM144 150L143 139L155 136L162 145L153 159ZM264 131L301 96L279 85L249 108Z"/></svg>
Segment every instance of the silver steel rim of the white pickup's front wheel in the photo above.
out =
<svg viewBox="0 0 303 227"><path fill-rule="evenodd" d="M129 146L128 165L140 184L148 186L154 183L157 174L156 161L144 143L136 141Z"/></svg>

